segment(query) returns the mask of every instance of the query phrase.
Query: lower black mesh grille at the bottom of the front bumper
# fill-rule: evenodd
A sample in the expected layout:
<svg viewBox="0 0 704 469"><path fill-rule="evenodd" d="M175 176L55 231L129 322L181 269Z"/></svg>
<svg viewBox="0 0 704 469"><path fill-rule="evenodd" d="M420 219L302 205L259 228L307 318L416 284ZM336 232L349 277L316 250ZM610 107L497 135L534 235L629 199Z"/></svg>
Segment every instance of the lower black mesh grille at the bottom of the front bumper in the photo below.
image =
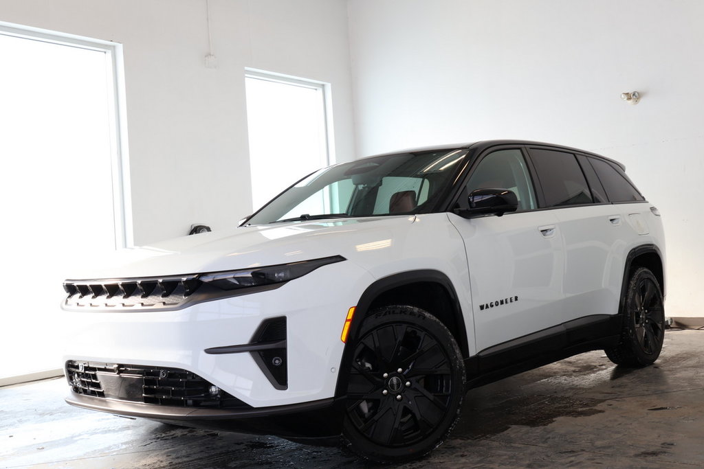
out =
<svg viewBox="0 0 704 469"><path fill-rule="evenodd" d="M156 366L67 361L73 392L160 406L250 409L243 401L190 371Z"/></svg>

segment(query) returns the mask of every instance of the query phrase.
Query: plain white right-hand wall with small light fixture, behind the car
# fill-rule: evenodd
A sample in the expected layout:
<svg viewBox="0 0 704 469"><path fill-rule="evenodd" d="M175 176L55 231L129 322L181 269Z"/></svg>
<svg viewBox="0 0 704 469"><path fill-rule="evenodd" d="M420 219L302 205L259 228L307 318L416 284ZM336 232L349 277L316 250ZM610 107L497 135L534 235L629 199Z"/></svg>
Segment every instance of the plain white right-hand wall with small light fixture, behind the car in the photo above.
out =
<svg viewBox="0 0 704 469"><path fill-rule="evenodd" d="M348 11L360 155L508 138L620 160L663 214L667 314L704 316L704 2L350 0Z"/></svg>

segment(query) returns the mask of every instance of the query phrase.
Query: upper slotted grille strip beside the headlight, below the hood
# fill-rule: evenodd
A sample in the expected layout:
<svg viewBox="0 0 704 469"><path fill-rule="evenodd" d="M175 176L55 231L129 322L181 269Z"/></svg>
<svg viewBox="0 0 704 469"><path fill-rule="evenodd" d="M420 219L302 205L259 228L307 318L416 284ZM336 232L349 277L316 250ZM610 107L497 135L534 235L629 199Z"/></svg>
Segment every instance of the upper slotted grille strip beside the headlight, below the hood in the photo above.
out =
<svg viewBox="0 0 704 469"><path fill-rule="evenodd" d="M63 283L64 306L105 309L178 307L202 285L198 276L122 278Z"/></svg>

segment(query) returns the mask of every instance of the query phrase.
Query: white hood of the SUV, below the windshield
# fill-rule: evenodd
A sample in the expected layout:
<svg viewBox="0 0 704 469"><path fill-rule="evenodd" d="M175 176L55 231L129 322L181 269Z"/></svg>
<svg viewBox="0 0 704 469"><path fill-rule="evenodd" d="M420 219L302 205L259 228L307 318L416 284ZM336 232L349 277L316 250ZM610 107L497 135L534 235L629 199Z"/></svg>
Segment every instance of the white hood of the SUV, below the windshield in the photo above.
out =
<svg viewBox="0 0 704 469"><path fill-rule="evenodd" d="M243 226L165 240L87 259L72 280L197 274L287 264L388 248L415 216L303 221Z"/></svg>

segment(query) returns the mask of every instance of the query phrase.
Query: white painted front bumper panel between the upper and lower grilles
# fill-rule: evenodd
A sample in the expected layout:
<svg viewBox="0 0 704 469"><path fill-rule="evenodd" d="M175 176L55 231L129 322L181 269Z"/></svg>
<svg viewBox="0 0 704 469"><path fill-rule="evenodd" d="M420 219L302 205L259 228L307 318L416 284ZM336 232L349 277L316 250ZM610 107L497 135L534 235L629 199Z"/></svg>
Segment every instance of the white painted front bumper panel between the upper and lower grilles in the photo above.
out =
<svg viewBox="0 0 704 469"><path fill-rule="evenodd" d="M175 311L64 311L65 361L179 368L255 409L323 401L337 385L347 310L371 281L356 264L339 262L275 290ZM258 363L268 350L250 347L263 323L279 318L287 327L285 386Z"/></svg>

